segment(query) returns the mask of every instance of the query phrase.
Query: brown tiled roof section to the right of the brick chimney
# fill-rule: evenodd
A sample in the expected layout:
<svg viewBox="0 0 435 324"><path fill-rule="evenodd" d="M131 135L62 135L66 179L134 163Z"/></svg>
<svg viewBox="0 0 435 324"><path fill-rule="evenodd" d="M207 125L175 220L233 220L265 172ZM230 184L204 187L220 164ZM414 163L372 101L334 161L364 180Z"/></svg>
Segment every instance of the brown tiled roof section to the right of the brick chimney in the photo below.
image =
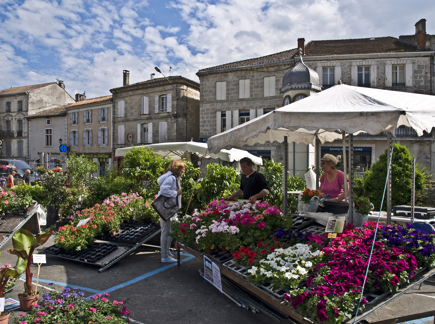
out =
<svg viewBox="0 0 435 324"><path fill-rule="evenodd" d="M305 44L305 56L416 52L417 47L395 37L357 38L347 40L311 40Z"/></svg>

